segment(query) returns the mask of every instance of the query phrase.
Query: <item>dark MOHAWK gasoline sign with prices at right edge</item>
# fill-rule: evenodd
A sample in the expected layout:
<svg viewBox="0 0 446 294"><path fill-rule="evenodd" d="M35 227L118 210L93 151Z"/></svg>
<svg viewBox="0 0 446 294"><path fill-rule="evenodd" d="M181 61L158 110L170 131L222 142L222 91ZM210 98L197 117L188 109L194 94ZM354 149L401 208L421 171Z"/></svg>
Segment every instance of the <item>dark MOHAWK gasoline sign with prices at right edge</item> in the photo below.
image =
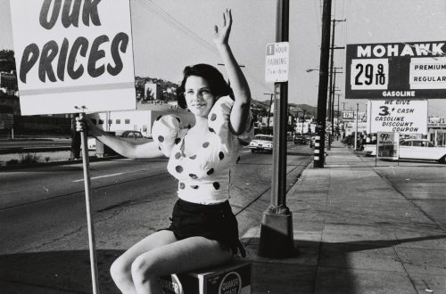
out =
<svg viewBox="0 0 446 294"><path fill-rule="evenodd" d="M347 45L345 98L446 98L446 41Z"/></svg>

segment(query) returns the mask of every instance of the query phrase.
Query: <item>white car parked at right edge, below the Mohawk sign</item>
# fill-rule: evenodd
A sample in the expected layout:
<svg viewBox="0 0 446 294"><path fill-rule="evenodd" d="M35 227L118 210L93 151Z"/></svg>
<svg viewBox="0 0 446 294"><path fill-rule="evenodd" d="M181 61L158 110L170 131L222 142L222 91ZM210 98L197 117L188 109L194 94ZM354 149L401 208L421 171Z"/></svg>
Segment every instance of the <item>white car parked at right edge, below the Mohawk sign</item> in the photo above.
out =
<svg viewBox="0 0 446 294"><path fill-rule="evenodd" d="M435 147L426 139L408 139L400 142L400 159L426 159L446 163L446 147Z"/></svg>

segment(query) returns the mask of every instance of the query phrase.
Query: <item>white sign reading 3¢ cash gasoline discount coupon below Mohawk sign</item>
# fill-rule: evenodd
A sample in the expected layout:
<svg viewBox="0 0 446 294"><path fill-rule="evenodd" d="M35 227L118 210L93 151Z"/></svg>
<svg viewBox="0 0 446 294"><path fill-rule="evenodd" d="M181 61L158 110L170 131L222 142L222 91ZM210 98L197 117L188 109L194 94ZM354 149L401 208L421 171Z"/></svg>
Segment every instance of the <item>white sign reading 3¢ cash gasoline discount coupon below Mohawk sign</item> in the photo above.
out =
<svg viewBox="0 0 446 294"><path fill-rule="evenodd" d="M427 134L426 100L371 101L372 133Z"/></svg>

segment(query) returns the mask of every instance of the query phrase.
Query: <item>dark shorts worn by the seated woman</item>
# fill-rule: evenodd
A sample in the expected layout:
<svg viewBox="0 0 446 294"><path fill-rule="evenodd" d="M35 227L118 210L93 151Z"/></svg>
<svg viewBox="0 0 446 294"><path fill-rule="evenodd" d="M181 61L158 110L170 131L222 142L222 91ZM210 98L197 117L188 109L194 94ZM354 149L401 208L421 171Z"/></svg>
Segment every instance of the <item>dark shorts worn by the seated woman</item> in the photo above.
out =
<svg viewBox="0 0 446 294"><path fill-rule="evenodd" d="M229 201L216 205L202 205L178 200L172 211L171 224L167 230L172 231L178 240L202 236L232 250L235 254L244 248L238 239L238 224Z"/></svg>

